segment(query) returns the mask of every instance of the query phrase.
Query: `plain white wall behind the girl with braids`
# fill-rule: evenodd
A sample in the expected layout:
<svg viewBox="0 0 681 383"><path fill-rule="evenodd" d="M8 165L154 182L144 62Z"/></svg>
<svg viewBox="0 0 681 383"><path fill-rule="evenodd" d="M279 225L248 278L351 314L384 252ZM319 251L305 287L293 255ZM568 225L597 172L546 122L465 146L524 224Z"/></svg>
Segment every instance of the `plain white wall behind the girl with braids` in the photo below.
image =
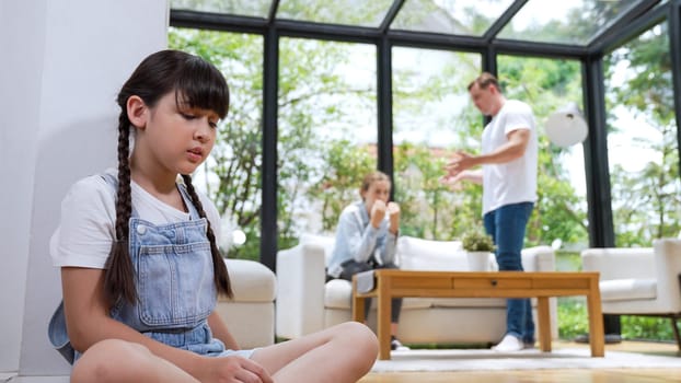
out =
<svg viewBox="0 0 681 383"><path fill-rule="evenodd" d="M0 0L0 372L68 373L48 240L70 184L115 164L115 97L166 46L168 0Z"/></svg>

